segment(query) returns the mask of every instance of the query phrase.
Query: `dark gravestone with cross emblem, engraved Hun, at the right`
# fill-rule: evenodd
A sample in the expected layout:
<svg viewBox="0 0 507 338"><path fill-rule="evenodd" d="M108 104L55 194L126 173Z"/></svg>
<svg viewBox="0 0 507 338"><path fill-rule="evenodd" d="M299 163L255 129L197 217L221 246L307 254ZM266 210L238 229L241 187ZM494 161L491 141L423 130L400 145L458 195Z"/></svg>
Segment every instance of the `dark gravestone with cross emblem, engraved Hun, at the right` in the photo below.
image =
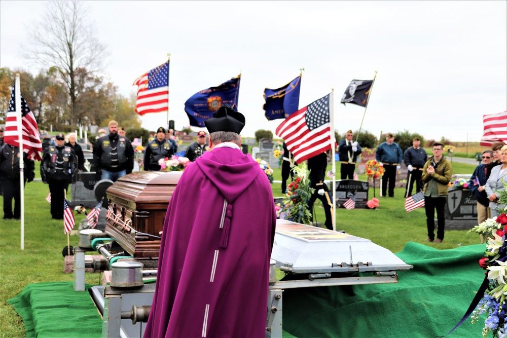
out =
<svg viewBox="0 0 507 338"><path fill-rule="evenodd" d="M477 199L468 189L449 189L446 202L446 229L464 230L477 226Z"/></svg>

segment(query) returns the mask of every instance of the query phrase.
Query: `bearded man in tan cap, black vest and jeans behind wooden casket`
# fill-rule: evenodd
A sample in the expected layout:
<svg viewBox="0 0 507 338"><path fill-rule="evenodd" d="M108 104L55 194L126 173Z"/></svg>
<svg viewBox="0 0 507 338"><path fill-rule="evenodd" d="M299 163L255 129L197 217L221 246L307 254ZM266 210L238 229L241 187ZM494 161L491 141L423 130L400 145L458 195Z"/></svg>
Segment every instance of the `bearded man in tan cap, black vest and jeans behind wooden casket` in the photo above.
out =
<svg viewBox="0 0 507 338"><path fill-rule="evenodd" d="M109 135L100 137L93 146L93 160L102 179L116 182L118 178L132 172L134 148L130 140L118 135L118 122L110 121Z"/></svg>

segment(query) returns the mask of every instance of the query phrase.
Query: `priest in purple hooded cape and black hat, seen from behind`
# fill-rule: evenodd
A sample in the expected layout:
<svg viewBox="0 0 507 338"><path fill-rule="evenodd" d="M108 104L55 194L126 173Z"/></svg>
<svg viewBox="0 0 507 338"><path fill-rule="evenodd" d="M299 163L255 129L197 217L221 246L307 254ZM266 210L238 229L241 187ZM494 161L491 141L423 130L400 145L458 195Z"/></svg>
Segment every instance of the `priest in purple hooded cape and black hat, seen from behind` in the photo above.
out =
<svg viewBox="0 0 507 338"><path fill-rule="evenodd" d="M264 171L239 145L245 118L206 120L209 152L171 197L144 337L264 337L276 212Z"/></svg>

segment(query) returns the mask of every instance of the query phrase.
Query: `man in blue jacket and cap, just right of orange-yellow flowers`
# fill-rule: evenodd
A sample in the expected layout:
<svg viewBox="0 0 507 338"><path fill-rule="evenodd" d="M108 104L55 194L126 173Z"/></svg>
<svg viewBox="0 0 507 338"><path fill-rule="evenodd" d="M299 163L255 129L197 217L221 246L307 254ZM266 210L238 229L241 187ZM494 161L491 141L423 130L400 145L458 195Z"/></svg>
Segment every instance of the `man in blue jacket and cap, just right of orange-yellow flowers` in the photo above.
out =
<svg viewBox="0 0 507 338"><path fill-rule="evenodd" d="M377 162L383 164L385 173L382 177L382 197L386 196L387 181L389 181L389 197L394 197L394 183L396 181L396 171L400 170L402 163L402 148L394 142L394 135L387 134L386 141L381 143L375 154Z"/></svg>

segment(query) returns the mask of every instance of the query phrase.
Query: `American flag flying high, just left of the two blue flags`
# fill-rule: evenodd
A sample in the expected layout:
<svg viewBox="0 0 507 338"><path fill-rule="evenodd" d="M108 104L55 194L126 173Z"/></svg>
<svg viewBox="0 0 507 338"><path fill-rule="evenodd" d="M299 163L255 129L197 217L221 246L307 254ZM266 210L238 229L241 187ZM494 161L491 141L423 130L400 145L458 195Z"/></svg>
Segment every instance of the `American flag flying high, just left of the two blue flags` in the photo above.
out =
<svg viewBox="0 0 507 338"><path fill-rule="evenodd" d="M169 60L142 74L133 85L137 85L137 114L169 110Z"/></svg>

